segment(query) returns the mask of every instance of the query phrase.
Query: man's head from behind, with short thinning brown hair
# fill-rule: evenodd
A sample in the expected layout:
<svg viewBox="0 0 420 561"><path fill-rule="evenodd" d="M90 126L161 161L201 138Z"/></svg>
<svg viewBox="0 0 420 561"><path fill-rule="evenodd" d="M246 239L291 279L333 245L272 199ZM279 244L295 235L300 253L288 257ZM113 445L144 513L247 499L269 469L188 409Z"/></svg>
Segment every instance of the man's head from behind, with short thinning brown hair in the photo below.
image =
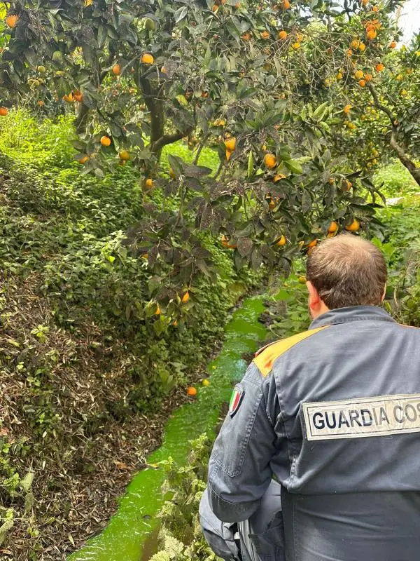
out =
<svg viewBox="0 0 420 561"><path fill-rule="evenodd" d="M308 257L307 288L312 318L346 306L379 306L386 288L384 256L352 234L325 240Z"/></svg>

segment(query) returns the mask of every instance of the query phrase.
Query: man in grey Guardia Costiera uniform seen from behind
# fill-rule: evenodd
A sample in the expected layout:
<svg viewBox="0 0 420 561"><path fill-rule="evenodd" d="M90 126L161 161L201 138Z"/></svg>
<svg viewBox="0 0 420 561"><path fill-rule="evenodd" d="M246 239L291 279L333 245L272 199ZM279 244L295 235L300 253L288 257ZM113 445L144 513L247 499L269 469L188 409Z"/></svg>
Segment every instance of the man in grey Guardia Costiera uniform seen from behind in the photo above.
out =
<svg viewBox="0 0 420 561"><path fill-rule="evenodd" d="M262 349L235 388L211 511L251 520L274 476L287 561L418 560L420 330L381 309L384 258L357 236L318 245L307 288L309 330Z"/></svg>

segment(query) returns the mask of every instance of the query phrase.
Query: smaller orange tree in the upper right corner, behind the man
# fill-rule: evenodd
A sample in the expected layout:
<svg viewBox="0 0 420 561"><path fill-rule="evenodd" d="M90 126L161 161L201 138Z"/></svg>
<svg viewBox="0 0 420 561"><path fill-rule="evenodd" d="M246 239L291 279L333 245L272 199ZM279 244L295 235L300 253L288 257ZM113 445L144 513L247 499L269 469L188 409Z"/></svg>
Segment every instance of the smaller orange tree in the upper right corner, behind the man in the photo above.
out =
<svg viewBox="0 0 420 561"><path fill-rule="evenodd" d="M335 104L333 152L345 154L346 165L368 171L397 157L420 184L419 36L398 49L393 10L393 4L364 1L358 13L343 20L342 33L327 48L326 29L318 30L307 50L312 72L305 77L309 98Z"/></svg>

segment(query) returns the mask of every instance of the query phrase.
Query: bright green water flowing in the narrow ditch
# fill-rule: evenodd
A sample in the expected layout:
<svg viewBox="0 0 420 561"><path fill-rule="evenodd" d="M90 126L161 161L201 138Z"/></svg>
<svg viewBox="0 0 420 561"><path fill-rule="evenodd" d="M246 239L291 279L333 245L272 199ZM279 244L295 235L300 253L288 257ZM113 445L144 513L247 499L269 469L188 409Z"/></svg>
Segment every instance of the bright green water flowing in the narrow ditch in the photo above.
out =
<svg viewBox="0 0 420 561"><path fill-rule="evenodd" d="M232 381L239 381L246 370L241 356L253 352L265 339L267 330L258 323L263 311L260 297L244 300L225 327L225 344L218 357L208 365L210 386L197 386L197 399L176 410L167 422L162 446L148 457L148 464L172 456L185 464L190 447L188 441L212 431L221 403L228 401ZM148 468L137 473L120 500L116 515L102 534L73 553L68 561L140 561L144 544L158 526L155 515L162 506L160 486L163 473Z"/></svg>

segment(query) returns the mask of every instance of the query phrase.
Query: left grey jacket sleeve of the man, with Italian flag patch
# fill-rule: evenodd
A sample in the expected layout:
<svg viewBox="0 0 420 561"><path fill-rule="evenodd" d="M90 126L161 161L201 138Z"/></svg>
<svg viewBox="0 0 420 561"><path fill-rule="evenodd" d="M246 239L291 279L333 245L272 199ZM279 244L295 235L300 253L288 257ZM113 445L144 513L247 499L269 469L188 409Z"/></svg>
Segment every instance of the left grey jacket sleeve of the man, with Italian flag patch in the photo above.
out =
<svg viewBox="0 0 420 561"><path fill-rule="evenodd" d="M209 503L223 522L248 519L272 480L270 461L276 452L275 419L267 400L276 399L273 377L262 377L251 363L241 384L234 414L228 412L209 462Z"/></svg>

